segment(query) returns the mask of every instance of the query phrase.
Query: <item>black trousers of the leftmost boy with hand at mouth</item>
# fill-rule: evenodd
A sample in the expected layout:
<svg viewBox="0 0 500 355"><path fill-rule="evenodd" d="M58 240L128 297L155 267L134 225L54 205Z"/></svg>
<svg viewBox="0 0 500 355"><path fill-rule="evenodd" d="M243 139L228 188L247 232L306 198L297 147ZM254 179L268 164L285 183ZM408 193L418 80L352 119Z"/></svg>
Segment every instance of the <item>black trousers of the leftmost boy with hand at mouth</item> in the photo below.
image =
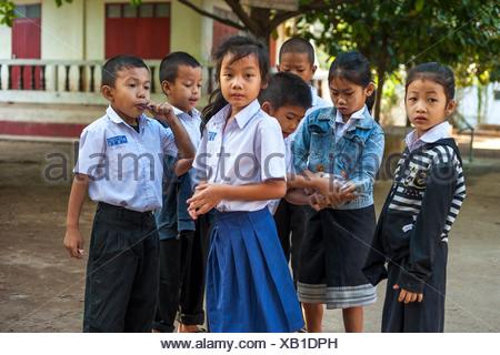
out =
<svg viewBox="0 0 500 355"><path fill-rule="evenodd" d="M99 203L87 264L83 332L151 332L158 273L152 213Z"/></svg>

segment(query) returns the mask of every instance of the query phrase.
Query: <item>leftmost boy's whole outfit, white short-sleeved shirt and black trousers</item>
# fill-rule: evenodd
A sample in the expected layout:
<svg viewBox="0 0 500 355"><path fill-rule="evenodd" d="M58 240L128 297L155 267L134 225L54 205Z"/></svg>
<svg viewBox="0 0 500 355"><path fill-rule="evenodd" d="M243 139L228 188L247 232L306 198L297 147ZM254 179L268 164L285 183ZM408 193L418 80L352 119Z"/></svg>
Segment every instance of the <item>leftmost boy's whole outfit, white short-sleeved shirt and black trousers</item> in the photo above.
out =
<svg viewBox="0 0 500 355"><path fill-rule="evenodd" d="M98 202L87 264L84 332L150 332L158 295L162 155L173 133L141 115L138 131L109 106L80 136L74 173Z"/></svg>

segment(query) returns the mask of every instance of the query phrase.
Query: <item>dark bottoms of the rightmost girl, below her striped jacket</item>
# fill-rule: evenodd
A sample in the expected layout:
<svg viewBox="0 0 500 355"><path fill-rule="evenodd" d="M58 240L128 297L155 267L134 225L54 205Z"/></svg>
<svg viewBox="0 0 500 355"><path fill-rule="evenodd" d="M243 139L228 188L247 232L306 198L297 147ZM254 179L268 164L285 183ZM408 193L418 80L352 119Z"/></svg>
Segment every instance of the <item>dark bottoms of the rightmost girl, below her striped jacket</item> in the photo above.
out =
<svg viewBox="0 0 500 355"><path fill-rule="evenodd" d="M401 267L388 264L386 301L382 313L383 333L442 333L444 331L444 298L447 284L448 244L436 248L432 275L423 287L423 301L404 304L398 302L401 290L398 283ZM404 261L399 264L404 265Z"/></svg>

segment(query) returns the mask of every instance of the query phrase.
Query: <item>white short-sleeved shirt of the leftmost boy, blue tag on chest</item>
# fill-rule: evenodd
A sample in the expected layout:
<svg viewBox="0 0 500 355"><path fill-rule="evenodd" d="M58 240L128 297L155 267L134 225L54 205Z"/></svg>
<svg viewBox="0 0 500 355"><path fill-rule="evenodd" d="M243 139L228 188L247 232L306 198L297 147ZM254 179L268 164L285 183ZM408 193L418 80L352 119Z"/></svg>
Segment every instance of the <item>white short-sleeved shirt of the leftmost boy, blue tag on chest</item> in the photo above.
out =
<svg viewBox="0 0 500 355"><path fill-rule="evenodd" d="M73 172L94 178L89 183L92 201L152 211L162 205L162 154L177 153L170 129L142 114L137 132L108 106L83 129Z"/></svg>

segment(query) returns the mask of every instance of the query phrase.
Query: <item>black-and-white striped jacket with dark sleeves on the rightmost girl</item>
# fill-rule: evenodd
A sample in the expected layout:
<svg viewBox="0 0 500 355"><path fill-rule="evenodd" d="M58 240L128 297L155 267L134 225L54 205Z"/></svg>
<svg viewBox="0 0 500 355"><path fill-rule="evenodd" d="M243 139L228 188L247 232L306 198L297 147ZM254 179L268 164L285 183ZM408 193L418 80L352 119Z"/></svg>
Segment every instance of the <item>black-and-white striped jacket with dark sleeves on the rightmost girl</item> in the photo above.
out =
<svg viewBox="0 0 500 355"><path fill-rule="evenodd" d="M378 284L386 262L401 265L398 284L421 293L432 274L434 251L448 234L466 197L460 152L453 139L411 151L398 162L363 272Z"/></svg>

